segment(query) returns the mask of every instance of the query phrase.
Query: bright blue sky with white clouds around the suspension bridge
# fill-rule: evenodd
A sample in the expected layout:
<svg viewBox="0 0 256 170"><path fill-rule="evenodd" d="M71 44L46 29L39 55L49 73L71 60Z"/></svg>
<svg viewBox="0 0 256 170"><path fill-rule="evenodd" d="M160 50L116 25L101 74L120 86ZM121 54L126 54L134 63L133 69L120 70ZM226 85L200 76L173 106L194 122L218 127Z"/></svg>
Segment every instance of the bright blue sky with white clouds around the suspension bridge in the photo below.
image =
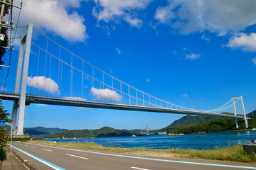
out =
<svg viewBox="0 0 256 170"><path fill-rule="evenodd" d="M24 0L18 25L33 23L83 60L164 101L209 110L242 96L249 113L256 108L255 6L249 0ZM17 18L18 11L14 14ZM21 33L22 28L17 34ZM36 33L33 41L46 47L46 40ZM58 54L58 48L53 51ZM17 54L18 45L11 58L8 91L14 89ZM37 55L38 49L32 48L31 66L37 64ZM9 55L5 60L8 63ZM36 68L29 69L30 77L36 76ZM38 68L38 76L43 75L43 64ZM60 91L55 71L51 76L47 71L46 78L53 79ZM63 74L70 74L70 69ZM61 96L80 97L78 84L73 81L72 96L64 92L70 87L63 85ZM27 92L35 93L31 86ZM89 88L84 94L90 100ZM11 112L12 102L3 103ZM26 106L24 126L131 130L148 125L153 130L182 116L31 104Z"/></svg>

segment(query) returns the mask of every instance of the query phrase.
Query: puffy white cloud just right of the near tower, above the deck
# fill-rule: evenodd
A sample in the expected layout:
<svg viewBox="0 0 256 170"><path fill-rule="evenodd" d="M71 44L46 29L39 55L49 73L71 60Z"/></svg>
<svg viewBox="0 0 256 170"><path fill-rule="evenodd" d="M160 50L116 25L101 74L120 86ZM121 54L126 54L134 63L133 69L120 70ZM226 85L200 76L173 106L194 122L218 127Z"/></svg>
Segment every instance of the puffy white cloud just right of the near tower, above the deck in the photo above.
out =
<svg viewBox="0 0 256 170"><path fill-rule="evenodd" d="M38 90L47 91L50 94L60 94L59 86L50 78L46 77L28 77L27 85Z"/></svg>

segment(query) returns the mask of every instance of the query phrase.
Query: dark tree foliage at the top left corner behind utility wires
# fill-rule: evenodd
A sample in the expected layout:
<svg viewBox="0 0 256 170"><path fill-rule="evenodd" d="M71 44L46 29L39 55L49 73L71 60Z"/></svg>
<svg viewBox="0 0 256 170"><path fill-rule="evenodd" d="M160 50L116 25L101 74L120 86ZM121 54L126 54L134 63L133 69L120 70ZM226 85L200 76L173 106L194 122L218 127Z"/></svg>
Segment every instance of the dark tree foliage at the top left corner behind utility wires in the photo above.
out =
<svg viewBox="0 0 256 170"><path fill-rule="evenodd" d="M10 3L9 0L6 0L7 3ZM1 6L3 5L1 2L0 2ZM7 14L9 14L9 9L11 8L11 6L9 5L6 5L5 4L5 8L4 8L4 16L6 16ZM1 8L0 8L1 9ZM4 23L4 21L2 21L1 23ZM1 30L0 30L0 34L3 34L4 35L4 40L0 40L0 64L4 64L4 61L2 60L2 58L4 57L4 54L6 53L6 48L7 45L8 45L8 35L7 35L7 28L5 27L1 27Z"/></svg>

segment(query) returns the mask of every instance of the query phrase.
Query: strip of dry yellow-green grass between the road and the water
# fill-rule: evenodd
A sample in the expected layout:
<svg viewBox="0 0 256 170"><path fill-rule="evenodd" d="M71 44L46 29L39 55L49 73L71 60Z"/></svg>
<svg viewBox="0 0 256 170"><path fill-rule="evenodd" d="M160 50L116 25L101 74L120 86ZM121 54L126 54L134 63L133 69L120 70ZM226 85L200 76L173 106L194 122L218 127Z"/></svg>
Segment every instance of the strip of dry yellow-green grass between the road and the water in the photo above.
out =
<svg viewBox="0 0 256 170"><path fill-rule="evenodd" d="M223 147L208 150L196 149L146 149L135 148L126 149L120 147L100 147L95 143L65 143L65 142L43 142L43 141L29 141L29 143L48 145L52 147L65 147L75 149L87 149L103 152L115 152L125 154L139 154L157 157L182 157L182 158L198 158L198 159L214 159L225 160L233 162L256 162L255 153L244 152L241 146Z"/></svg>

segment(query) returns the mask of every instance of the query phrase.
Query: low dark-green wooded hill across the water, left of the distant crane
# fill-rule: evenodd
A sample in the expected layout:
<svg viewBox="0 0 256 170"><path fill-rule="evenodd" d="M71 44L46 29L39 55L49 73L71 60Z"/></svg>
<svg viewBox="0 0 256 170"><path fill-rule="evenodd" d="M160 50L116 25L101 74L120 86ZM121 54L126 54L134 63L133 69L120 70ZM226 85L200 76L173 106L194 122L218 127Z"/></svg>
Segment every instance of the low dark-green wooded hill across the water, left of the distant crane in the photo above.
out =
<svg viewBox="0 0 256 170"><path fill-rule="evenodd" d="M46 138L73 138L73 137L126 137L136 132L132 130L117 130L110 127L103 127L97 130L66 130L53 135L46 135Z"/></svg>

